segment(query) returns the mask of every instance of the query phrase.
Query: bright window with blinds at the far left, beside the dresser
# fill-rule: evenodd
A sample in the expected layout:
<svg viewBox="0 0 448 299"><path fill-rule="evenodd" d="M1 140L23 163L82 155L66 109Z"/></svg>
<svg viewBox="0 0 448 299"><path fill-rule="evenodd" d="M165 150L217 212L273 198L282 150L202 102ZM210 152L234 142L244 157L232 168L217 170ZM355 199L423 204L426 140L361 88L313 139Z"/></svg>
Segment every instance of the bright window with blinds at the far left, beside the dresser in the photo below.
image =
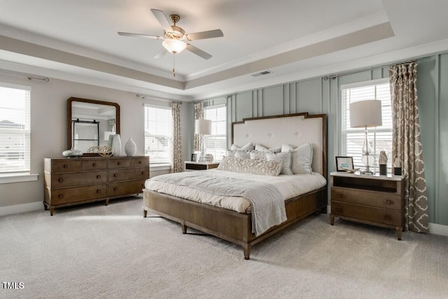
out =
<svg viewBox="0 0 448 299"><path fill-rule="evenodd" d="M29 174L30 90L0 83L0 175Z"/></svg>

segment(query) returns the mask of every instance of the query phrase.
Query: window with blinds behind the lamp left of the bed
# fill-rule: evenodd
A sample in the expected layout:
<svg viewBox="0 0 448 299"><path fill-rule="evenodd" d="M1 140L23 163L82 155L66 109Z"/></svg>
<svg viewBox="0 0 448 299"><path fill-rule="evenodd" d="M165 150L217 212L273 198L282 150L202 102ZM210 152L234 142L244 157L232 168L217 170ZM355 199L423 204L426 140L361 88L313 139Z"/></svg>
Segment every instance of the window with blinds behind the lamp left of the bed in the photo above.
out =
<svg viewBox="0 0 448 299"><path fill-rule="evenodd" d="M205 119L211 120L211 134L204 136L205 153L211 153L214 160L221 161L227 148L225 106L205 107Z"/></svg>

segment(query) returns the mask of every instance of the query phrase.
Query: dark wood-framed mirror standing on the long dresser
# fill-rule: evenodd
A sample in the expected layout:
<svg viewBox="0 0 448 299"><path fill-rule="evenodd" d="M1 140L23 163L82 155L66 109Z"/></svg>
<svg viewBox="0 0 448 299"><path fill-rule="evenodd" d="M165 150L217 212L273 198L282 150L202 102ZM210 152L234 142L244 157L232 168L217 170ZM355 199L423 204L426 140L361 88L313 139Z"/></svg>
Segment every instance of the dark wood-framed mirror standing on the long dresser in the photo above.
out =
<svg viewBox="0 0 448 299"><path fill-rule="evenodd" d="M95 99L67 99L67 149L83 155L91 146L108 145L111 134L120 134L120 105Z"/></svg>

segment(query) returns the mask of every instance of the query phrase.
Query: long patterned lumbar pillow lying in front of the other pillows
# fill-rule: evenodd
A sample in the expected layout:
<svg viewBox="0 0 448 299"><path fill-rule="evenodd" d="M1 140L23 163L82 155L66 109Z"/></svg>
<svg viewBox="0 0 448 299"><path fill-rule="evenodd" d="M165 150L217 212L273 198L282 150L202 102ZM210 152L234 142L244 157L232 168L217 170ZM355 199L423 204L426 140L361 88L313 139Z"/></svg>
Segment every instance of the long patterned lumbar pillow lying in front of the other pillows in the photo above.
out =
<svg viewBox="0 0 448 299"><path fill-rule="evenodd" d="M219 163L218 170L228 172L243 172L246 174L261 174L265 176L278 176L281 172L281 161L260 161L225 157Z"/></svg>

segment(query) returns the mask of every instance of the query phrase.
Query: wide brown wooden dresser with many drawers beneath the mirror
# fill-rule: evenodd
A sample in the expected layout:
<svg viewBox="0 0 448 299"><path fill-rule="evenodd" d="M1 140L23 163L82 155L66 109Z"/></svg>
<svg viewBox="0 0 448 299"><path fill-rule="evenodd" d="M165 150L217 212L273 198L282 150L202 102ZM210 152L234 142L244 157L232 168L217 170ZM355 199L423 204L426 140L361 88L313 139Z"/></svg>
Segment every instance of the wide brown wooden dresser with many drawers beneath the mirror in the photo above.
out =
<svg viewBox="0 0 448 299"><path fill-rule="evenodd" d="M44 159L43 204L50 209L142 193L149 178L149 157Z"/></svg>

